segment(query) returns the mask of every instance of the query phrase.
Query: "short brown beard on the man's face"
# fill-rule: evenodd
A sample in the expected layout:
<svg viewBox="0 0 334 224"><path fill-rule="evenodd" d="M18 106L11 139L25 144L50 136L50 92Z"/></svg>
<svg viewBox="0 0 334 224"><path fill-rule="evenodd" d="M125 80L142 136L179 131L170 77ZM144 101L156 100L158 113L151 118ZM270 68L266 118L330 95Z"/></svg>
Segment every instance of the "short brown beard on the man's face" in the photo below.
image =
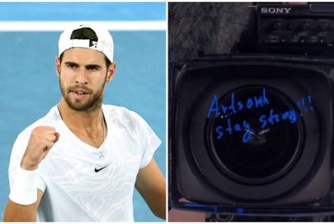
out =
<svg viewBox="0 0 334 224"><path fill-rule="evenodd" d="M106 84L106 79L104 79L102 86L98 88L96 92L94 92L92 89L79 84L65 88L63 82L61 81L61 76L59 78L59 86L61 87L61 94L63 95L63 98L65 99L65 102L70 107L70 109L74 111L92 112L96 111L97 109L100 109L100 107L102 106L105 84ZM72 99L70 97L71 91L76 88L88 91L90 97L86 102L83 102L82 99Z"/></svg>

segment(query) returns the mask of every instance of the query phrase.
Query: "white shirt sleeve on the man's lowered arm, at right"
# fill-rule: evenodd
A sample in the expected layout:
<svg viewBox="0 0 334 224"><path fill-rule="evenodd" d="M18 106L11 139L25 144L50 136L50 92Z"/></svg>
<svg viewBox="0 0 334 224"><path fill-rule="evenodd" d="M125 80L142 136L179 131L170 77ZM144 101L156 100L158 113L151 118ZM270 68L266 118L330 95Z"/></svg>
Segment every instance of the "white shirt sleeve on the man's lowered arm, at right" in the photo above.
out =
<svg viewBox="0 0 334 224"><path fill-rule="evenodd" d="M143 149L140 168L144 168L152 160L155 150L161 145L161 140L140 115L134 113L134 118L136 119L136 129L138 130L139 141Z"/></svg>

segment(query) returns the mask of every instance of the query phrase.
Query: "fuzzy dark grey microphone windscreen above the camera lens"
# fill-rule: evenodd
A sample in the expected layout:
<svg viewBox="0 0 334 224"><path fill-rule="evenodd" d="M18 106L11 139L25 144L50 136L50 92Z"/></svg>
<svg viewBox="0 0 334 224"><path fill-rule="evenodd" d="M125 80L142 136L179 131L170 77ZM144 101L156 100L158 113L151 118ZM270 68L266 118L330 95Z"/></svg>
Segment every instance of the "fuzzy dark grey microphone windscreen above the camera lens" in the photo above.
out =
<svg viewBox="0 0 334 224"><path fill-rule="evenodd" d="M248 25L249 3L168 3L168 61L229 54Z"/></svg>

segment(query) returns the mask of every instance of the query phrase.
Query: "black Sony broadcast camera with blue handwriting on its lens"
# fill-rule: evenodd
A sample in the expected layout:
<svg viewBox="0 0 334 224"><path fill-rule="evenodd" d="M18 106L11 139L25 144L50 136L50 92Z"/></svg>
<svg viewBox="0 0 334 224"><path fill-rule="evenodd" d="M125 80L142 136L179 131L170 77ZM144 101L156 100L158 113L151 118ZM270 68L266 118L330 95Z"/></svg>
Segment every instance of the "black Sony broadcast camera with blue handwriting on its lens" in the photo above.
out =
<svg viewBox="0 0 334 224"><path fill-rule="evenodd" d="M331 221L334 3L248 9L232 54L168 65L169 207Z"/></svg>

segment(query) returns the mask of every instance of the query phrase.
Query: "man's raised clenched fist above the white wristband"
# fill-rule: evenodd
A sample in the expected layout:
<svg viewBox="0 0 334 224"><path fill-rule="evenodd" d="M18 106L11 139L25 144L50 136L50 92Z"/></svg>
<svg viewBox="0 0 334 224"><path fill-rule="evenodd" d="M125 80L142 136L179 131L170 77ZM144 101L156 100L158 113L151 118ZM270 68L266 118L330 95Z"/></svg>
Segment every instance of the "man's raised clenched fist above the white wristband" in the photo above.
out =
<svg viewBox="0 0 334 224"><path fill-rule="evenodd" d="M31 136L26 146L26 152L21 161L24 170L35 170L44 159L54 143L58 141L59 133L54 127L40 126L31 131Z"/></svg>

